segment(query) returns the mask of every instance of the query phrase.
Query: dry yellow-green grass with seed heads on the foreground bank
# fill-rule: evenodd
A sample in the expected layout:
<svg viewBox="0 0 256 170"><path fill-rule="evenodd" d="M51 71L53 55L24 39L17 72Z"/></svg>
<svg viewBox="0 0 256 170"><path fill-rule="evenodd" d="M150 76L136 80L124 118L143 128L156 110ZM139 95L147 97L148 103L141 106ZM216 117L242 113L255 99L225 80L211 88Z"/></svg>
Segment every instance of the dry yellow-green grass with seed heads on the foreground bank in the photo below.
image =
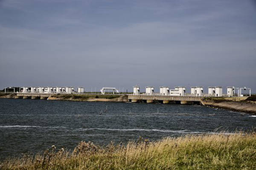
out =
<svg viewBox="0 0 256 170"><path fill-rule="evenodd" d="M73 152L52 146L44 154L7 159L0 169L14 170L194 170L256 169L256 134L208 134L139 139L127 145L99 147L80 142Z"/></svg>

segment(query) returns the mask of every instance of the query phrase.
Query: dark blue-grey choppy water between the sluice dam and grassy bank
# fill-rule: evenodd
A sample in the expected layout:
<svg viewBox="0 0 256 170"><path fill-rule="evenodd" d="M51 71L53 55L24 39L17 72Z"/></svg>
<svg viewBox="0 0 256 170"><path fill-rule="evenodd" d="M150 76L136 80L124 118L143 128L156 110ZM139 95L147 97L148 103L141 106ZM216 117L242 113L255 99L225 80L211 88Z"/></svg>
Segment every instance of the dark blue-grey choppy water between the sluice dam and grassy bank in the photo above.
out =
<svg viewBox="0 0 256 170"><path fill-rule="evenodd" d="M104 145L255 125L250 114L198 105L0 99L0 159L52 144L73 149L82 140Z"/></svg>

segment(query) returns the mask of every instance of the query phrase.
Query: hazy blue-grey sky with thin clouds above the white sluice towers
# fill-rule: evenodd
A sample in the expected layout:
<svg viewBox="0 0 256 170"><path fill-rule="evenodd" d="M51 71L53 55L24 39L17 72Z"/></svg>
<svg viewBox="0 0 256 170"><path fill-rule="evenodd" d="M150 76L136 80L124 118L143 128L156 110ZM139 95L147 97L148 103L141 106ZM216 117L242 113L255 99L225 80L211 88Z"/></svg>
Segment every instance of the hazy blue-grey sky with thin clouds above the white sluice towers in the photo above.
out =
<svg viewBox="0 0 256 170"><path fill-rule="evenodd" d="M0 89L249 87L255 0L0 0Z"/></svg>

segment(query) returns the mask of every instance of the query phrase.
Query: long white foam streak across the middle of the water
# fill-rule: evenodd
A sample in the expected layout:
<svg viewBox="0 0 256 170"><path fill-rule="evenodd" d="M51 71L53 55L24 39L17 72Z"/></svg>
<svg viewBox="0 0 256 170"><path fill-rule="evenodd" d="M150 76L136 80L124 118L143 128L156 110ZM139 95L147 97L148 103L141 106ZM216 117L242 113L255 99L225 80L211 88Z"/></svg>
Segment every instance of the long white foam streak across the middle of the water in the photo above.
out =
<svg viewBox="0 0 256 170"><path fill-rule="evenodd" d="M159 130L159 129L108 129L108 128L80 128L81 131L86 130L111 130L111 131L154 131L154 132L172 132L172 133L182 133L186 130Z"/></svg>

